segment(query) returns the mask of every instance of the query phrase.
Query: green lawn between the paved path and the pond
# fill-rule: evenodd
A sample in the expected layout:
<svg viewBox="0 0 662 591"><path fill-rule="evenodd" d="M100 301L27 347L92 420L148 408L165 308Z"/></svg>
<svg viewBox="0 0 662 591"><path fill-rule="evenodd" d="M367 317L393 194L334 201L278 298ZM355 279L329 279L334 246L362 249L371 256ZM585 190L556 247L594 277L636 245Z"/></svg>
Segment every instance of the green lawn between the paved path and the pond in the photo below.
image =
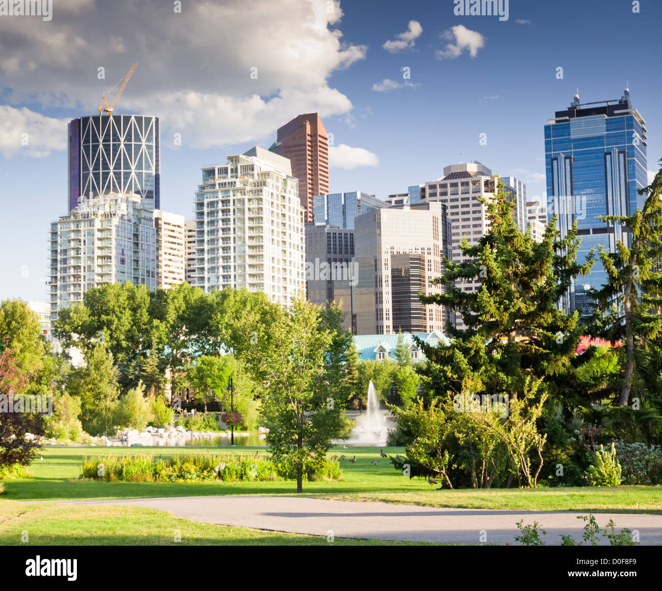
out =
<svg viewBox="0 0 662 591"><path fill-rule="evenodd" d="M265 448L215 447L214 453L266 453ZM207 448L182 447L48 447L43 461L30 466L31 478L5 481L3 499L66 500L146 498L158 496L197 496L209 494L295 495L295 482L96 482L76 480L83 456L154 453L167 459L173 453L203 453ZM403 453L402 447L389 447L389 455ZM330 455L356 455L356 463L342 462L344 479L340 482L304 482L305 496L354 501L385 501L436 507L493 508L520 510L573 510L581 512L639 512L662 514L662 487L619 486L615 488L538 488L537 490L436 490L424 478L407 478L393 469L388 459L379 457L374 447L342 446ZM371 465L373 459L378 465Z"/></svg>

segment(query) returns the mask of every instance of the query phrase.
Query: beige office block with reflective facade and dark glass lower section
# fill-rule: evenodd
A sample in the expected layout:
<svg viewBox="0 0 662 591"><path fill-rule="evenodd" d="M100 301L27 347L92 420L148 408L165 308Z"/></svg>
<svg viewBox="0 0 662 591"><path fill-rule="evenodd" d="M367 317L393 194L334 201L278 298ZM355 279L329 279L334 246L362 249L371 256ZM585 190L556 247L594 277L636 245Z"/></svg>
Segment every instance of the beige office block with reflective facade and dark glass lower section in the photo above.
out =
<svg viewBox="0 0 662 591"><path fill-rule="evenodd" d="M446 310L424 305L419 293L442 293L431 279L450 255L449 224L442 203L373 209L355 220L356 334L444 331Z"/></svg>

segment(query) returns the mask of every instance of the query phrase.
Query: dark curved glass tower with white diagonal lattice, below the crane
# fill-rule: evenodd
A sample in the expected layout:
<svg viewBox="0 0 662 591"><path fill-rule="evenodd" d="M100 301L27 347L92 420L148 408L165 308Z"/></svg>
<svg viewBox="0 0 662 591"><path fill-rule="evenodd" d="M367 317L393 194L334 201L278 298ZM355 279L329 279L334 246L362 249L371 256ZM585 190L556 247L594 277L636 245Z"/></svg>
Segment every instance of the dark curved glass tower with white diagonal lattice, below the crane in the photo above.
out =
<svg viewBox="0 0 662 591"><path fill-rule="evenodd" d="M69 123L69 200L136 193L159 209L159 120L142 115L93 115Z"/></svg>

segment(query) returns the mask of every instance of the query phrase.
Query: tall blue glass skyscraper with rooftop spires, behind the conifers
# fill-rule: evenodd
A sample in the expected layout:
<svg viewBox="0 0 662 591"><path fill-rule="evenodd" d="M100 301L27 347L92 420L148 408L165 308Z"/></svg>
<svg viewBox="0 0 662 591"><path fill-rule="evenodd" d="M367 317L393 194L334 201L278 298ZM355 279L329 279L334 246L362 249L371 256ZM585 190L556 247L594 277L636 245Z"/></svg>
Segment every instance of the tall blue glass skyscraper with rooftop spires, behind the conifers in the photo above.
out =
<svg viewBox="0 0 662 591"><path fill-rule="evenodd" d="M616 250L616 241L629 245L627 230L598 220L597 216L630 215L645 197L638 189L647 185L645 121L630 103L626 89L619 100L579 103L579 94L564 111L545 125L547 211L557 214L557 229L565 236L577 220L581 247L578 262L598 245ZM591 274L577 277L563 298L565 310L591 313L587 289L604 285L600 260Z"/></svg>

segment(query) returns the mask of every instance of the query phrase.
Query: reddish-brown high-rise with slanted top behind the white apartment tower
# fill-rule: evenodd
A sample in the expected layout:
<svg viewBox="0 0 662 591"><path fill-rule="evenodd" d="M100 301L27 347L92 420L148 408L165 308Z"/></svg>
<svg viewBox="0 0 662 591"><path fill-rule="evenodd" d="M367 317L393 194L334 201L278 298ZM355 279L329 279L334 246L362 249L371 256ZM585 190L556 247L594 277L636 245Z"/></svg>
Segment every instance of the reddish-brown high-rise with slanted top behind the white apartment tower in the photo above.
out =
<svg viewBox="0 0 662 591"><path fill-rule="evenodd" d="M299 199L305 221L312 222L313 195L329 192L328 136L317 113L305 113L278 130L271 152L289 158L292 176L299 179Z"/></svg>

